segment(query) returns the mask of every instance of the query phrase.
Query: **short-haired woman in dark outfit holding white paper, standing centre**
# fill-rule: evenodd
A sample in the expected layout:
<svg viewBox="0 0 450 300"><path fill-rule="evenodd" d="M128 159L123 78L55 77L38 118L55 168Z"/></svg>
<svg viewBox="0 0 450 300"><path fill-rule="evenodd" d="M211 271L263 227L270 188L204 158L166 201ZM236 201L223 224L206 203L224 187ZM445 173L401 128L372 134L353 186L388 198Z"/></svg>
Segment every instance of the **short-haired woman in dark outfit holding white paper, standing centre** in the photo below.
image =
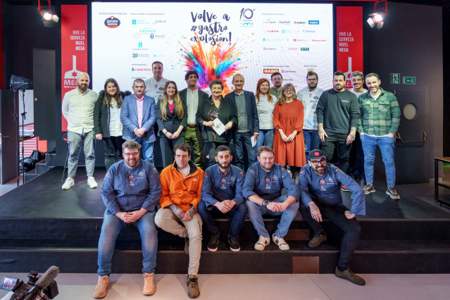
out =
<svg viewBox="0 0 450 300"><path fill-rule="evenodd" d="M205 143L204 163L206 165L215 164L215 148L220 145L230 145L232 140L233 125L237 124L237 114L235 107L228 99L223 98L223 82L211 80L209 82L211 96L199 103L197 110L197 124L201 127L201 139ZM225 132L218 135L213 130L215 118L218 118L225 125ZM208 158L208 159L207 159Z"/></svg>

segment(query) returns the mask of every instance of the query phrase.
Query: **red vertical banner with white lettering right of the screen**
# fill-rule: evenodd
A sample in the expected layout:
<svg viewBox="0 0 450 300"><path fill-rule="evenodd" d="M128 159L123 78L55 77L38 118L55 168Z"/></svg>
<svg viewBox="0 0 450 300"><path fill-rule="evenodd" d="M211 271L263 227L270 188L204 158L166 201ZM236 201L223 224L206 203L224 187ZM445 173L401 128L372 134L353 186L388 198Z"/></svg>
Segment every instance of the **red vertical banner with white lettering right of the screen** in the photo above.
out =
<svg viewBox="0 0 450 300"><path fill-rule="evenodd" d="M350 75L363 72L363 8L336 7L336 61L337 70L345 74L345 87L351 89Z"/></svg>

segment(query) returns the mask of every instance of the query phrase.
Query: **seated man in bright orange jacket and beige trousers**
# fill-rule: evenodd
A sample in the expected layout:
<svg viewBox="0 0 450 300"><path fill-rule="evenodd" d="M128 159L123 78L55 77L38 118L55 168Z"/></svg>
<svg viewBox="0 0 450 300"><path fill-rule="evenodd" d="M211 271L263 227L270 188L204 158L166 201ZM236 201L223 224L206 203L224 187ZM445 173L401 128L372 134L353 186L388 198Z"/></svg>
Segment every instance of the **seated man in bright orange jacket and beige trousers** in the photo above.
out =
<svg viewBox="0 0 450 300"><path fill-rule="evenodd" d="M187 275L188 295L199 296L199 272L201 254L201 218L197 205L201 201L201 185L204 173L191 161L191 148L186 144L174 147L175 163L161 172L161 188L155 223L162 230L185 238L185 252L189 254Z"/></svg>

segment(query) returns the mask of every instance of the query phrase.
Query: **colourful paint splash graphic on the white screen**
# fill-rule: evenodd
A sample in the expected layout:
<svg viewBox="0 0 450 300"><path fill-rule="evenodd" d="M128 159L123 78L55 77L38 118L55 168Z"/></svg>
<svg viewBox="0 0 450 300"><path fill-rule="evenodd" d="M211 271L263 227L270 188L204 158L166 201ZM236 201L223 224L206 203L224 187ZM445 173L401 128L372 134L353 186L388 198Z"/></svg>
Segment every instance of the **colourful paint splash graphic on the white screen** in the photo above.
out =
<svg viewBox="0 0 450 300"><path fill-rule="evenodd" d="M219 42L206 51L201 42L189 45L190 49L181 45L182 61L188 70L196 70L199 73L200 89L208 88L209 82L220 79L223 82L223 93L227 94L230 89L225 80L237 73L241 58L241 51L236 49L236 42L232 46Z"/></svg>

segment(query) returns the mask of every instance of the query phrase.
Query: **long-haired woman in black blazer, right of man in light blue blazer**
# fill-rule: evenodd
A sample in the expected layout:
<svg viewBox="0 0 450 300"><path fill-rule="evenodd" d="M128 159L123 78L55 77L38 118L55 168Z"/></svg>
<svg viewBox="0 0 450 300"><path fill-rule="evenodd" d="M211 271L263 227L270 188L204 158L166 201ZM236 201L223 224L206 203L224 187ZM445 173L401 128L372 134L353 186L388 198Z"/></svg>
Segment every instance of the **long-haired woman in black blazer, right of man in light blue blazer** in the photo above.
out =
<svg viewBox="0 0 450 300"><path fill-rule="evenodd" d="M158 136L161 137L161 154L164 168L173 163L173 147L185 142L187 108L178 94L177 84L165 83L163 97L156 104L156 123Z"/></svg>

